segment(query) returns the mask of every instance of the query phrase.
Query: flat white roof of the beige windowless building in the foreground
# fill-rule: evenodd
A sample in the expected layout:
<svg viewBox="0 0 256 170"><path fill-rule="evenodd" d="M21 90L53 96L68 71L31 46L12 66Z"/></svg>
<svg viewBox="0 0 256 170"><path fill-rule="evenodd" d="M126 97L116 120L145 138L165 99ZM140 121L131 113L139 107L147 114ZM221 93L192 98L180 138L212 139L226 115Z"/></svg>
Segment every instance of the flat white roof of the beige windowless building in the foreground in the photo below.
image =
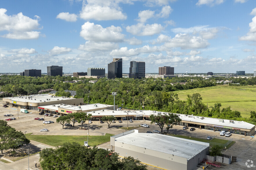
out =
<svg viewBox="0 0 256 170"><path fill-rule="evenodd" d="M112 136L114 137L114 136ZM137 133L116 137L115 141L187 158L187 161L209 147L209 143L163 134Z"/></svg>

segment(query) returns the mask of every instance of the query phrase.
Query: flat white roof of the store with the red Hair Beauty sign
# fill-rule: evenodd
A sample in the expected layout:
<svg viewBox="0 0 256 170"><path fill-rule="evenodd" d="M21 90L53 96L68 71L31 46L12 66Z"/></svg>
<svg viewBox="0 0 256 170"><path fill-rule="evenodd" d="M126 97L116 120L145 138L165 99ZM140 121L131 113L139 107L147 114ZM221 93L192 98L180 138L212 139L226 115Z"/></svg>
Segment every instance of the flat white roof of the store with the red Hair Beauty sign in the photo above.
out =
<svg viewBox="0 0 256 170"><path fill-rule="evenodd" d="M81 106L73 106L68 104L54 104L54 105L47 105L47 106L40 106L40 107L45 109L51 109L51 110L58 110L58 108L69 109L69 110L92 110L97 108L101 110L102 108L111 107L111 106L114 106L114 105L96 103L96 104L87 104L87 105L81 105Z"/></svg>

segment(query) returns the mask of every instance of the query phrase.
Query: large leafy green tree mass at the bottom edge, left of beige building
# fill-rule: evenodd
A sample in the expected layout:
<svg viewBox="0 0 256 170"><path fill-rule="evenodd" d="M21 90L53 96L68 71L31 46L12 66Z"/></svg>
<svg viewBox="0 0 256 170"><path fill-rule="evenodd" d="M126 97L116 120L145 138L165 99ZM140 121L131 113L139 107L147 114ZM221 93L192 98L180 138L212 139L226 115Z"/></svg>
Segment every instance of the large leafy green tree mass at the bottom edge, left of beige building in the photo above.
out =
<svg viewBox="0 0 256 170"><path fill-rule="evenodd" d="M46 148L40 153L43 169L70 170L146 170L138 159L125 157L120 160L117 153L96 147L87 148L79 143L64 143L56 149Z"/></svg>

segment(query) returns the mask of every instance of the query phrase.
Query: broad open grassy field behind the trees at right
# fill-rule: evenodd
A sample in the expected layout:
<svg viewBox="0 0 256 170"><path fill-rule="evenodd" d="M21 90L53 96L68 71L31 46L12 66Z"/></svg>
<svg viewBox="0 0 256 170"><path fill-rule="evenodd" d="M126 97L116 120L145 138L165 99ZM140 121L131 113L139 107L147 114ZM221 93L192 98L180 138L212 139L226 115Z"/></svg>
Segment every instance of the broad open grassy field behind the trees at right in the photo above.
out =
<svg viewBox="0 0 256 170"><path fill-rule="evenodd" d="M241 112L242 117L250 117L250 111L256 111L256 86L218 85L174 93L177 93L181 100L187 100L187 94L200 93L203 103L208 103L208 107L221 103L221 109L230 106L231 109Z"/></svg>

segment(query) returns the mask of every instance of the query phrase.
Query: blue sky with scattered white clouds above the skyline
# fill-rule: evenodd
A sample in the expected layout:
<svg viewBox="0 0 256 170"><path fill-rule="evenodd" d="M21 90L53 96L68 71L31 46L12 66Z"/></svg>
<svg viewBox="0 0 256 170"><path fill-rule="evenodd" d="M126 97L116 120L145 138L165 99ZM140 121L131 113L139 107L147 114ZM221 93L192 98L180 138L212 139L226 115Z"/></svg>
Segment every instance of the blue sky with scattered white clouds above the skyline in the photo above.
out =
<svg viewBox="0 0 256 170"><path fill-rule="evenodd" d="M86 72L113 58L146 73L253 73L255 0L44 0L0 3L0 73L63 66Z"/></svg>

